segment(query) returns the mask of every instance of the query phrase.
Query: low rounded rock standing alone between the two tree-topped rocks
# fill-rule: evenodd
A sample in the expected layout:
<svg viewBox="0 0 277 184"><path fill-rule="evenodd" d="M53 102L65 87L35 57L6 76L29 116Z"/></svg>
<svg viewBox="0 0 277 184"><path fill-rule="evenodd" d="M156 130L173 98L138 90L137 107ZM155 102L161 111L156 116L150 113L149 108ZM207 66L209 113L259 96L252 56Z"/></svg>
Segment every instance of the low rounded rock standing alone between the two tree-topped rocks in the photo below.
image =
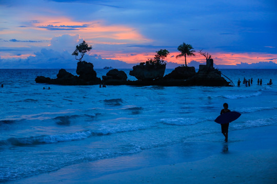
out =
<svg viewBox="0 0 277 184"><path fill-rule="evenodd" d="M105 84L125 84L127 81L127 75L123 71L118 71L117 69L110 70L106 76L102 76L103 83Z"/></svg>

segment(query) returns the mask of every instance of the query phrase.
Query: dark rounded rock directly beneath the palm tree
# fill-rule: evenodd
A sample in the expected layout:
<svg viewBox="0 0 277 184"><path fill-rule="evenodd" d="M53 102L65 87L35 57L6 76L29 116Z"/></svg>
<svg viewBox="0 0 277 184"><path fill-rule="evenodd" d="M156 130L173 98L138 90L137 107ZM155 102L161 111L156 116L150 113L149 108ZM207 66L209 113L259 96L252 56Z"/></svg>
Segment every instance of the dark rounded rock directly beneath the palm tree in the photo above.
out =
<svg viewBox="0 0 277 184"><path fill-rule="evenodd" d="M196 73L195 73L195 68L193 66L191 67L178 66L178 67L175 67L175 69L170 74L167 74L164 78L181 80L181 79L188 79L194 75L196 75Z"/></svg>

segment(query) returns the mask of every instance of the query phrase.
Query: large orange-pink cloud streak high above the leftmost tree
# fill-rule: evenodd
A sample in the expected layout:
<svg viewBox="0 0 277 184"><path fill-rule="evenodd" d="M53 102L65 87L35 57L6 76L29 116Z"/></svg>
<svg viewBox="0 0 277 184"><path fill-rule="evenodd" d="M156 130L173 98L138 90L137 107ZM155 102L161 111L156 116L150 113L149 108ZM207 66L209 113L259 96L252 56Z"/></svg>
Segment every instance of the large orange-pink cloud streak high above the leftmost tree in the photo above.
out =
<svg viewBox="0 0 277 184"><path fill-rule="evenodd" d="M38 17L39 22L33 22L33 29L53 31L62 34L82 34L82 37L102 43L97 38L104 38L105 42L116 43L145 43L151 41L137 30L122 25L105 25L103 21L77 22L67 17ZM107 41L107 39L109 41Z"/></svg>

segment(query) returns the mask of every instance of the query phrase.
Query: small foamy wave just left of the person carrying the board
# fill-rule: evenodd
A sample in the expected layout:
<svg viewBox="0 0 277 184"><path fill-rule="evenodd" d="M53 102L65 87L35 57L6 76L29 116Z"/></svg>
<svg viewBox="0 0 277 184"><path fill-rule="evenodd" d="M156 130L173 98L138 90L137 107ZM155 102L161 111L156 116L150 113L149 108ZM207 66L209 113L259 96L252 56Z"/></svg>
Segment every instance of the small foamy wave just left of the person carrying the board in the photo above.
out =
<svg viewBox="0 0 277 184"><path fill-rule="evenodd" d="M161 119L164 124L168 125L195 125L202 122L203 120L197 118L168 118Z"/></svg>

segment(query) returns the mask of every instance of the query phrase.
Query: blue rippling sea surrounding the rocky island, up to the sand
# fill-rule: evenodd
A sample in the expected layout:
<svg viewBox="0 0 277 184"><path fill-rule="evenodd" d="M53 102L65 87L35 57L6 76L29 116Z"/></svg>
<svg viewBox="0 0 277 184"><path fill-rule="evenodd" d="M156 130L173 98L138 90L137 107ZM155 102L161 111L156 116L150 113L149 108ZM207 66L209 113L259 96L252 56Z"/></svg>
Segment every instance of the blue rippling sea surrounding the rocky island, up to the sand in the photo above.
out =
<svg viewBox="0 0 277 184"><path fill-rule="evenodd" d="M0 70L0 182L212 136L225 102L242 113L229 131L276 125L277 70L221 71L235 84L244 77L253 84L62 86L34 81L58 70ZM98 77L107 72L96 69Z"/></svg>

